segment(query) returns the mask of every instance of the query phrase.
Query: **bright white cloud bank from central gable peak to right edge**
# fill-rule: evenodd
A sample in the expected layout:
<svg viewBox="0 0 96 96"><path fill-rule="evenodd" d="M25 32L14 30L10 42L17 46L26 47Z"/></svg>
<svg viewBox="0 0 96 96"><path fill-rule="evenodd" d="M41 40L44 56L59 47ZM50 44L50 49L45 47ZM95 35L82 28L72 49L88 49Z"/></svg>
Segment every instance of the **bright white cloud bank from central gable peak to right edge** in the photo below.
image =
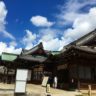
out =
<svg viewBox="0 0 96 96"><path fill-rule="evenodd" d="M44 48L47 50L60 50L70 42L84 36L96 28L96 7L93 7L86 14L80 14L75 18L72 28L64 30L63 36L59 39L56 34L45 34L42 36ZM51 30L52 31L52 30ZM46 31L44 31L46 32ZM56 33L56 32L55 32Z"/></svg>

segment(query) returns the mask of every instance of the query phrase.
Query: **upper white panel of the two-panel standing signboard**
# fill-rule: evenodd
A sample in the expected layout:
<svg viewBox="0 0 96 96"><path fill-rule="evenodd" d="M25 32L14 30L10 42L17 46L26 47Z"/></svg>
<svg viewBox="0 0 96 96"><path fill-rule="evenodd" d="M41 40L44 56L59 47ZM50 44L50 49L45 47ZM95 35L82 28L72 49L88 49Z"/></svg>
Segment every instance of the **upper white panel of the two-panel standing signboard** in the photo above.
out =
<svg viewBox="0 0 96 96"><path fill-rule="evenodd" d="M27 81L28 70L17 69L16 80Z"/></svg>

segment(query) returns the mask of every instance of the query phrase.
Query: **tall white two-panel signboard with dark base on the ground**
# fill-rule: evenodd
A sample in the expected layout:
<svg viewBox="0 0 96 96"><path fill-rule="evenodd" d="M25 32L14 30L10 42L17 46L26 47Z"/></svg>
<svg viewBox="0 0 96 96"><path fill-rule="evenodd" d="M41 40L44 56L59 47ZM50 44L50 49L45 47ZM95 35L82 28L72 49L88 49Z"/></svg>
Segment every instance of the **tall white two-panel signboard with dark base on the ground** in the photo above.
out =
<svg viewBox="0 0 96 96"><path fill-rule="evenodd" d="M27 69L17 69L16 73L16 84L15 84L15 96L21 96L26 93L26 83L27 83L28 70Z"/></svg>

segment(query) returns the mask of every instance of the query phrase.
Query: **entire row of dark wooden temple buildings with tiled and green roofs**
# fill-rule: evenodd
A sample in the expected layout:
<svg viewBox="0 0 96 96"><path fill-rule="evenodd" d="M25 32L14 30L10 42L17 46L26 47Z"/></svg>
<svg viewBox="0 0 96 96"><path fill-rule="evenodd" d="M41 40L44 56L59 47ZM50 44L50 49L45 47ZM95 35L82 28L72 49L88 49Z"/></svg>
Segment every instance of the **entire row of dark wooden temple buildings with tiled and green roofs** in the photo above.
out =
<svg viewBox="0 0 96 96"><path fill-rule="evenodd" d="M40 84L43 75L58 77L58 88L68 89L71 80L78 89L96 88L96 30L65 46L47 51L42 43L20 55L2 53L0 81L15 82L17 68L29 69L28 82Z"/></svg>

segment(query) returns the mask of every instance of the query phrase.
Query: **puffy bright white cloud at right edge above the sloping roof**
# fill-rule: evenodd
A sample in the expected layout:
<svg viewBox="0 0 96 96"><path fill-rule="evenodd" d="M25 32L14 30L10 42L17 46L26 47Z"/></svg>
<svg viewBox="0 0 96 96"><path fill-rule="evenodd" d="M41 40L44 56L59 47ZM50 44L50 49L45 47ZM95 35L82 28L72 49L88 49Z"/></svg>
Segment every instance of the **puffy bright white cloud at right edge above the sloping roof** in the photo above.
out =
<svg viewBox="0 0 96 96"><path fill-rule="evenodd" d="M64 32L64 38L71 38L72 41L94 30L96 28L96 7L91 8L89 13L76 18L72 27Z"/></svg>

